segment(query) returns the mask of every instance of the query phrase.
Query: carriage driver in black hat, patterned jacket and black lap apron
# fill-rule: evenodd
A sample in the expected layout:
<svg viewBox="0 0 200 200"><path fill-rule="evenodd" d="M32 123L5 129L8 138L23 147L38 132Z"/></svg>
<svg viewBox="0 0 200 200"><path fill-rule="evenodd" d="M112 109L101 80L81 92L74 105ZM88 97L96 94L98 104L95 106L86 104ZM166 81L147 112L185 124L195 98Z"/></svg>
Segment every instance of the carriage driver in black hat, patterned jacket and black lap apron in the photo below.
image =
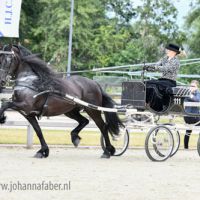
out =
<svg viewBox="0 0 200 200"><path fill-rule="evenodd" d="M180 67L177 55L180 47L176 44L168 44L166 56L156 63L155 66L145 66L144 70L159 71L162 73L158 80L146 82L146 103L155 111L165 111L168 107L172 87L176 86L176 78Z"/></svg>

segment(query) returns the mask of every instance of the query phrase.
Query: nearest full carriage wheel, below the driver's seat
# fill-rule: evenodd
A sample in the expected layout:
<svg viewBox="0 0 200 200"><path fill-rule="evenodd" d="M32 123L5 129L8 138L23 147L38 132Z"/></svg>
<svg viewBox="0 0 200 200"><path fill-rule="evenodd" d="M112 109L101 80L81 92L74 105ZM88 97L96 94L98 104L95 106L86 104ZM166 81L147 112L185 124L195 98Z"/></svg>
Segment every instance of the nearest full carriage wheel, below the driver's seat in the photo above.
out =
<svg viewBox="0 0 200 200"><path fill-rule="evenodd" d="M174 139L169 128L158 125L150 129L145 140L145 151L152 161L167 160L173 151Z"/></svg>

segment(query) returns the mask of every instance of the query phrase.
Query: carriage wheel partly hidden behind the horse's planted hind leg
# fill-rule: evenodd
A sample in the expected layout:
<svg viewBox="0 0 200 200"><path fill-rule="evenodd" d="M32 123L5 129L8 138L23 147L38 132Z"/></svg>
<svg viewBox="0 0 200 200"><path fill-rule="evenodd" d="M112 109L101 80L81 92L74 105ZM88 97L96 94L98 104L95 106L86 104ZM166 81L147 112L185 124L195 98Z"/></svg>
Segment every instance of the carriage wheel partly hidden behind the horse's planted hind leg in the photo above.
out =
<svg viewBox="0 0 200 200"><path fill-rule="evenodd" d="M115 147L115 154L114 156L121 156L129 145L129 132L126 128L120 128L119 136L112 137L109 135L111 144ZM101 147L105 150L105 140L103 135L101 135Z"/></svg>

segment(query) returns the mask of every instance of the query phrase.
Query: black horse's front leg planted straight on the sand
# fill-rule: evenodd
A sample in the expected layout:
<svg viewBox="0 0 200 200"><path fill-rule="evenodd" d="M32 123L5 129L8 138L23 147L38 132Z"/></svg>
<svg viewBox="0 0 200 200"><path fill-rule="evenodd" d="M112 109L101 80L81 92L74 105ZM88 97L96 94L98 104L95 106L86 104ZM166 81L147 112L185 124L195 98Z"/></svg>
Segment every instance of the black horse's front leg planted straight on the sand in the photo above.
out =
<svg viewBox="0 0 200 200"><path fill-rule="evenodd" d="M29 123L32 125L32 127L34 128L39 140L40 140L40 144L41 144L41 149L36 153L36 155L34 157L36 158L46 158L49 156L49 148L46 144L46 141L43 137L41 128L38 124L37 119L35 118L35 116L33 115L28 115L25 116L26 119L29 121Z"/></svg>

